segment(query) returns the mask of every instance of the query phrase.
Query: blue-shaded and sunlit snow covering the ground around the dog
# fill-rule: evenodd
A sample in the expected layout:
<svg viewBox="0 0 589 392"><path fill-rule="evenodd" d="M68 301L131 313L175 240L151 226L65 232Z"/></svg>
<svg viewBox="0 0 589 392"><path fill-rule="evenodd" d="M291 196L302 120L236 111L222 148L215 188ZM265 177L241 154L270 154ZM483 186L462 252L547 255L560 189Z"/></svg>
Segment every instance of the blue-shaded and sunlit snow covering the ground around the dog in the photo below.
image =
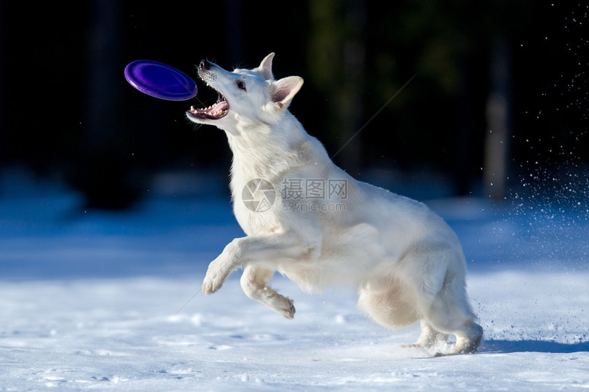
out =
<svg viewBox="0 0 589 392"><path fill-rule="evenodd" d="M238 273L203 296L209 261L242 235L227 196L155 194L105 213L58 185L4 175L0 391L588 389L586 215L429 204L464 246L485 330L477 354L402 348L418 326L374 324L345 289L312 295L276 276L294 320L249 300Z"/></svg>

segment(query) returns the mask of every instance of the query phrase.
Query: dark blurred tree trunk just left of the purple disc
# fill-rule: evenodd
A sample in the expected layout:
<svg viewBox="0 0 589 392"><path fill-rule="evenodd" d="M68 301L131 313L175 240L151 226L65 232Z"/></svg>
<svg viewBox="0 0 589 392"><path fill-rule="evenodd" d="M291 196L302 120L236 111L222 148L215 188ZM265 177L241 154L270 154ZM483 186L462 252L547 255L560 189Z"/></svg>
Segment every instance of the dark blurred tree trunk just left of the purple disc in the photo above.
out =
<svg viewBox="0 0 589 392"><path fill-rule="evenodd" d="M73 183L84 192L87 207L121 209L139 196L142 181L131 177L131 151L125 127L121 79L121 12L117 1L91 2L86 47L84 134Z"/></svg>

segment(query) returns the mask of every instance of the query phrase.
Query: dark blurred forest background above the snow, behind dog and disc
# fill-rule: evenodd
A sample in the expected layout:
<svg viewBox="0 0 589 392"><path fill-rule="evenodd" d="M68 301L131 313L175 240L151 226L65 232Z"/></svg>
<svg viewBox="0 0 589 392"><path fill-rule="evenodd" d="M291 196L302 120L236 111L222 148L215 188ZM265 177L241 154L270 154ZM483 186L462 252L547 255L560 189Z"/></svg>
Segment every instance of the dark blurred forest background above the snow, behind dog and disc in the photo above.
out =
<svg viewBox="0 0 589 392"><path fill-rule="evenodd" d="M163 170L227 173L223 132L184 117L199 101L141 94L123 70L156 60L196 80L201 58L253 67L274 51L276 77L305 79L291 112L354 177L426 175L452 195L500 200L539 159L544 170L587 164L588 11L525 0L0 0L0 168L66 181L87 207L108 209L134 205Z"/></svg>

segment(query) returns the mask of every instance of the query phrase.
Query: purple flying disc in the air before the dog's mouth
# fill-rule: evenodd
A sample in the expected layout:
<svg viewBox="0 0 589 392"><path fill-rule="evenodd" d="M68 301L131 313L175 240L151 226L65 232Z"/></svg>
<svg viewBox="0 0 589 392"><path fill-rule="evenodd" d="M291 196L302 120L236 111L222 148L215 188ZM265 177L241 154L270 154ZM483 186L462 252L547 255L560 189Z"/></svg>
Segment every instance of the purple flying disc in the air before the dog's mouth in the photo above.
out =
<svg viewBox="0 0 589 392"><path fill-rule="evenodd" d="M173 66L137 60L125 67L125 79L140 92L167 101L186 101L197 95L197 83Z"/></svg>

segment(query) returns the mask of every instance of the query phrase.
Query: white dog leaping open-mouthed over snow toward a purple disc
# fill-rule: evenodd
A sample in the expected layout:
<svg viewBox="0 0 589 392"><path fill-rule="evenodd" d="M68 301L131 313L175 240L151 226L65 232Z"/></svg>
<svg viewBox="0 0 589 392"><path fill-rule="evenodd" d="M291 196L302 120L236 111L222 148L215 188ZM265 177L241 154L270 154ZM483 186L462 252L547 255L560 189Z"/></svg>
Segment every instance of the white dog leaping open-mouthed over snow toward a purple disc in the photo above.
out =
<svg viewBox="0 0 589 392"><path fill-rule="evenodd" d="M335 166L288 112L303 79L275 80L273 57L234 72L207 60L199 65L219 99L205 109L191 107L187 116L227 133L234 213L247 234L210 263L203 292L214 293L243 267L247 296L292 318L292 300L268 285L274 271L306 290L351 285L360 293L360 309L379 324L421 320L414 345L430 347L454 334L446 354L475 352L483 330L466 298L466 262L456 235L422 203Z"/></svg>

